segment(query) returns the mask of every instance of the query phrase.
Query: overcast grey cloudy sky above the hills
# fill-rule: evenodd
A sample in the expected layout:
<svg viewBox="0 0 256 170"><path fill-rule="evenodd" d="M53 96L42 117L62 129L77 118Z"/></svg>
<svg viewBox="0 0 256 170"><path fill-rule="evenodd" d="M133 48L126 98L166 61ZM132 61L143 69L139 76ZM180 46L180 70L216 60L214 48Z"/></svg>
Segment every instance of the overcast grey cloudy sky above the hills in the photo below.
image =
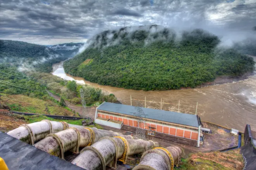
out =
<svg viewBox="0 0 256 170"><path fill-rule="evenodd" d="M85 42L121 26L201 27L244 37L256 26L256 0L1 0L0 38L40 45Z"/></svg>

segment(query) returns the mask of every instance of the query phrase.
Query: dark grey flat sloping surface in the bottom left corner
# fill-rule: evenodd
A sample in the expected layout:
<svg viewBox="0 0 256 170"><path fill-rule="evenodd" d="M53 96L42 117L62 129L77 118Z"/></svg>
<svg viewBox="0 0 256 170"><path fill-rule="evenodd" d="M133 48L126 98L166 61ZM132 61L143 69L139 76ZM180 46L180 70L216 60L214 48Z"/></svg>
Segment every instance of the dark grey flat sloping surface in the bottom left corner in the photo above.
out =
<svg viewBox="0 0 256 170"><path fill-rule="evenodd" d="M9 170L85 170L2 132L0 157Z"/></svg>

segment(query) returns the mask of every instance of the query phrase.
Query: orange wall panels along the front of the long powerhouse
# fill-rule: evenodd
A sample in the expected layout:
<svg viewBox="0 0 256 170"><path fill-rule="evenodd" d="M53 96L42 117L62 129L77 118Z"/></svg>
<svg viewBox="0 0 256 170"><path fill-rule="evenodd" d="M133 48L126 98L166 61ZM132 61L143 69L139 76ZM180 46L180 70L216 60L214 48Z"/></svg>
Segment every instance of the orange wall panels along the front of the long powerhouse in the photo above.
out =
<svg viewBox="0 0 256 170"><path fill-rule="evenodd" d="M101 113L98 111L97 117L109 118L112 120L119 120L119 121L122 121L124 125L138 127L137 120L128 118L128 117L124 117L124 116L121 117L121 116ZM164 125L164 124L157 124L157 123L148 122L148 121L146 121L145 124L140 124L139 126L142 129L147 129L147 130L150 129L151 131L156 131L156 132L160 132L160 133L164 133L164 134L168 134L168 135L172 135L172 136L184 137L184 138L191 139L191 140L198 139L198 131L191 130L191 129L185 129L185 128L181 128L181 127L175 127L175 126ZM120 128L118 128L118 129L120 129Z"/></svg>

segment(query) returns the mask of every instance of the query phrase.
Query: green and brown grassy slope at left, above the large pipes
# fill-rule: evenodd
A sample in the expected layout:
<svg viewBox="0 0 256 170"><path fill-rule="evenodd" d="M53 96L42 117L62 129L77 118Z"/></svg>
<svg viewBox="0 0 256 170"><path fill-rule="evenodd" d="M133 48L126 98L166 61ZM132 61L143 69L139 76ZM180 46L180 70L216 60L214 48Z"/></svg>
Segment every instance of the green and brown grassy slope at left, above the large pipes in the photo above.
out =
<svg viewBox="0 0 256 170"><path fill-rule="evenodd" d="M26 95L8 95L1 93L2 102L17 112L38 113L47 115L77 116L70 110L61 107L52 100L42 100Z"/></svg>

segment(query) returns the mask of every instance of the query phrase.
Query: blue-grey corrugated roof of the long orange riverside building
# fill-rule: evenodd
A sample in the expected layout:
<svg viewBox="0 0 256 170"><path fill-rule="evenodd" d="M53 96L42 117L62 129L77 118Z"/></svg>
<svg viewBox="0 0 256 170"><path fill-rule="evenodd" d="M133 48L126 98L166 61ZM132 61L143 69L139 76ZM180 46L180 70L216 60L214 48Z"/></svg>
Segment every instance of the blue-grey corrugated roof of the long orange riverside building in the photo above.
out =
<svg viewBox="0 0 256 170"><path fill-rule="evenodd" d="M122 105L117 103L102 103L98 110L114 112L114 113L122 113L125 115L132 115L136 112L135 106ZM166 110L158 110L152 108L142 108L145 113L146 118L161 120L165 122L171 122L175 124L188 125L193 127L199 127L199 122L197 119L197 115L187 114L187 113L178 113L178 112L170 112Z"/></svg>

